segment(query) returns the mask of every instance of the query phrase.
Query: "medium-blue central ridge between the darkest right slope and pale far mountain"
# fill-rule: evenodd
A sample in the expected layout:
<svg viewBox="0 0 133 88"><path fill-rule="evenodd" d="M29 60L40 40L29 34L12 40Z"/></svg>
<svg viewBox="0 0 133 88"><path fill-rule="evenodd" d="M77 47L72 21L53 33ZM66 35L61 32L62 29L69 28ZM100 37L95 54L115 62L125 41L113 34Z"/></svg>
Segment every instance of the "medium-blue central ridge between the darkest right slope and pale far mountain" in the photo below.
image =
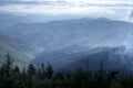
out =
<svg viewBox="0 0 133 88"><path fill-rule="evenodd" d="M82 52L91 50L90 47L85 46L79 46L79 45L71 45L66 46L64 48L53 51L50 53L42 53L38 57L35 57L32 63L38 64L38 63L51 63L53 67L60 68L64 65L70 64L73 61L78 61L75 56L80 56ZM79 55L76 55L79 53ZM75 54L75 56L74 56Z"/></svg>

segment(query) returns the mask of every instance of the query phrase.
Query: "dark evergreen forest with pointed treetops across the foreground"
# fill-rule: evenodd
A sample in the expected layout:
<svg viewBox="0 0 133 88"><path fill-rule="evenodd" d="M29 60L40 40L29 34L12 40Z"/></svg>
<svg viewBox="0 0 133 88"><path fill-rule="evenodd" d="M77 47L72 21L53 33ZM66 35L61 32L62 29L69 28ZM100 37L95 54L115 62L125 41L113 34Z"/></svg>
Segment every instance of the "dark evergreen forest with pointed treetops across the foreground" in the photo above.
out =
<svg viewBox="0 0 133 88"><path fill-rule="evenodd" d="M0 66L0 88L133 88L133 76L106 70L102 62L95 72L79 68L73 73L54 73L49 63L21 69L7 54Z"/></svg>

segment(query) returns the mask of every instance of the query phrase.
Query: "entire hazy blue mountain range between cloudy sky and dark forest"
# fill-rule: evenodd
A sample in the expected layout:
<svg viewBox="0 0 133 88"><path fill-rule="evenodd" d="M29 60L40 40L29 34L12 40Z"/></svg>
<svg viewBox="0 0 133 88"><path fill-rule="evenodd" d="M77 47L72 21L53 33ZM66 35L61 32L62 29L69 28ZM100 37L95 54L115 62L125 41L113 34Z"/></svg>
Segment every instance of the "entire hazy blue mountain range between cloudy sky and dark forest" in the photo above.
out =
<svg viewBox="0 0 133 88"><path fill-rule="evenodd" d="M132 56L125 54L126 45L124 46L132 32L132 23L105 18L34 23L18 21L17 16L2 19L0 23L0 46L4 51L1 52L1 58L9 51L17 55L16 59L22 59L23 64L29 61L49 62L57 70L74 69L88 61L90 68L96 69L101 59L106 62L106 68L132 66ZM39 47L43 52L40 53Z"/></svg>

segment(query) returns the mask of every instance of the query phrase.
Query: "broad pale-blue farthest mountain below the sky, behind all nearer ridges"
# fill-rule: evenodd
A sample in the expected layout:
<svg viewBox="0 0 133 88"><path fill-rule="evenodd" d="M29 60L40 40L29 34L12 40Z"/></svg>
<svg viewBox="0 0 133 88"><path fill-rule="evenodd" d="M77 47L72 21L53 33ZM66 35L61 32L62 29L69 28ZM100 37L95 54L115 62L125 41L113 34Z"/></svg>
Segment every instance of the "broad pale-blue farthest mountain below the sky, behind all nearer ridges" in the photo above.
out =
<svg viewBox="0 0 133 88"><path fill-rule="evenodd" d="M18 23L1 33L44 47L45 52L79 44L88 46L121 46L133 24L101 19Z"/></svg>

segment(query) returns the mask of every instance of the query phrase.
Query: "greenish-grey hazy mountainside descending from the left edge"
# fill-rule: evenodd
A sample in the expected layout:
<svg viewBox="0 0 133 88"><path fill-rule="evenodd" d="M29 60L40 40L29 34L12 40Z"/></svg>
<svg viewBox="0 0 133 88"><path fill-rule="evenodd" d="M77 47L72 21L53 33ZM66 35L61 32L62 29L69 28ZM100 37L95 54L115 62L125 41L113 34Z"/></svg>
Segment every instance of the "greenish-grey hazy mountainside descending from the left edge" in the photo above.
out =
<svg viewBox="0 0 133 88"><path fill-rule="evenodd" d="M8 52L16 64L19 66L25 66L32 58L34 58L34 55L40 52L40 48L18 38L0 34L1 63L6 59L4 56Z"/></svg>

